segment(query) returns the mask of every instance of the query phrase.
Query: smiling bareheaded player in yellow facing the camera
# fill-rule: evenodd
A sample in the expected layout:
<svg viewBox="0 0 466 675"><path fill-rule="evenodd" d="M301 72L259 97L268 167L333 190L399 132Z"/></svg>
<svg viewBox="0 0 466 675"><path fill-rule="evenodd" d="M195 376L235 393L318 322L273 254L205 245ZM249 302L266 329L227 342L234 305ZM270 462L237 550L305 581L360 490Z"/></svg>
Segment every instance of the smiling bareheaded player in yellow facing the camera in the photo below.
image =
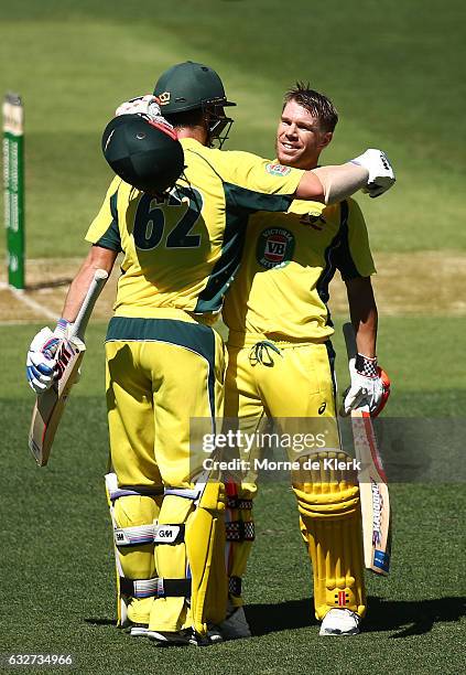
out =
<svg viewBox="0 0 466 675"><path fill-rule="evenodd" d="M284 99L277 136L278 161L315 168L337 119L332 101L297 84ZM323 469L327 458L350 465L339 448L335 420L334 329L326 304L336 270L347 286L359 350L345 410L348 414L358 405L364 390L371 411L377 411L382 383L370 283L375 266L362 214L348 199L330 206L296 201L288 214L258 213L250 218L241 267L223 313L229 328L225 416L239 417L240 429L248 432L260 429L264 417L279 418L282 431L308 430L303 428L304 420L300 428L295 418L317 420L313 430L325 431L327 450L315 448L311 454L321 470L293 475L293 490L314 569L321 634L354 634L366 611L359 491L355 471ZM235 489L231 494L231 485L229 489L232 511L227 521L249 523L232 527L227 546L230 593L239 606L240 579L253 538L251 499L256 484L243 483L237 494ZM227 522L227 537L228 529Z"/></svg>

